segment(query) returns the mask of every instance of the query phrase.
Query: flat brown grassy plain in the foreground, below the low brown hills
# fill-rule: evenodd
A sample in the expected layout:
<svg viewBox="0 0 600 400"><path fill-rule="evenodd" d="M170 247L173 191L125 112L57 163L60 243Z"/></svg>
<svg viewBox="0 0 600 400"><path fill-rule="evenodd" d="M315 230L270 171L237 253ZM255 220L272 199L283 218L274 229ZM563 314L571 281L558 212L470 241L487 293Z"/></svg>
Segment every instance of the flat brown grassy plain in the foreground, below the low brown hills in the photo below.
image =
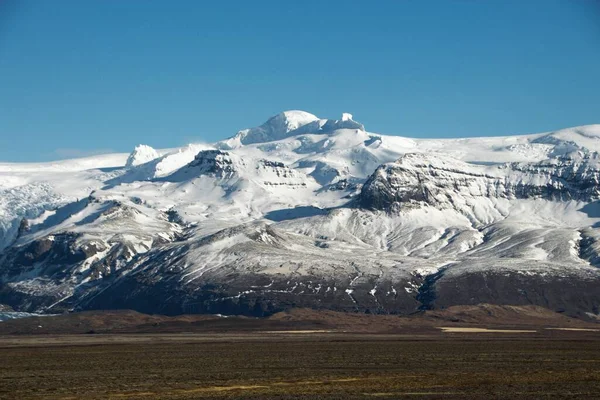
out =
<svg viewBox="0 0 600 400"><path fill-rule="evenodd" d="M6 337L0 398L599 398L577 334Z"/></svg>

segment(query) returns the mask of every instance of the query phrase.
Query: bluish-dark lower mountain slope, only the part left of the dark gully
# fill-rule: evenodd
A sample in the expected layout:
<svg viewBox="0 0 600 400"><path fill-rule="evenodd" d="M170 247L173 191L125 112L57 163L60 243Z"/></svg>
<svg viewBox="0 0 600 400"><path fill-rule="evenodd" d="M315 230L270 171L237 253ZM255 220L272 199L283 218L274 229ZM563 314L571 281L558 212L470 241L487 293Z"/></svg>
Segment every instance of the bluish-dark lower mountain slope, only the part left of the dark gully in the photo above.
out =
<svg viewBox="0 0 600 400"><path fill-rule="evenodd" d="M394 285L384 283L380 294L372 294L372 286L357 286L351 292L335 287L339 283L320 277L302 277L290 284L289 278L273 281L265 275L232 276L230 280L207 279L194 287L181 286L176 280L153 281L139 274L128 276L98 290L89 300L80 303L82 309L134 309L145 313L224 314L268 316L291 308L329 309L344 312L375 314L410 314L420 303L406 291L386 293ZM265 283L270 286L265 288ZM168 296L165 294L168 293Z"/></svg>

